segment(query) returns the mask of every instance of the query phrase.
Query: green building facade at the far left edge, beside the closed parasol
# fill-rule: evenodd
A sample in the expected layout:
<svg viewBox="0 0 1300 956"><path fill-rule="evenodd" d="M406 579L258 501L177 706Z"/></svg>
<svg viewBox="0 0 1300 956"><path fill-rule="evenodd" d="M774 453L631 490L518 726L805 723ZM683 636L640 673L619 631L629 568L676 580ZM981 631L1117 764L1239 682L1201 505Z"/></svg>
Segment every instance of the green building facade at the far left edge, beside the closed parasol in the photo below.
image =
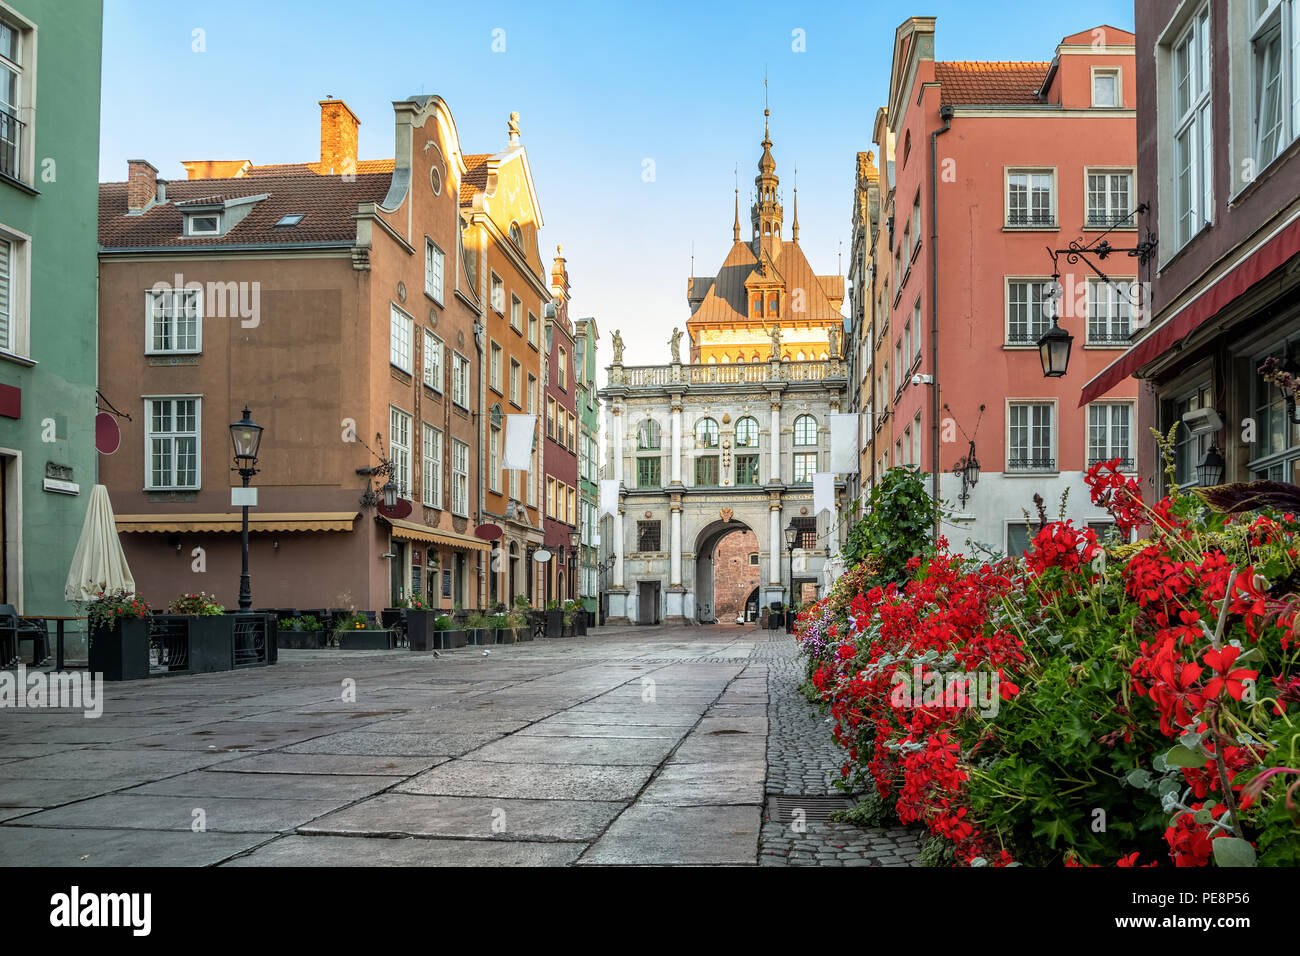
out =
<svg viewBox="0 0 1300 956"><path fill-rule="evenodd" d="M0 604L20 614L74 613L95 484L101 36L100 0L0 0Z"/></svg>

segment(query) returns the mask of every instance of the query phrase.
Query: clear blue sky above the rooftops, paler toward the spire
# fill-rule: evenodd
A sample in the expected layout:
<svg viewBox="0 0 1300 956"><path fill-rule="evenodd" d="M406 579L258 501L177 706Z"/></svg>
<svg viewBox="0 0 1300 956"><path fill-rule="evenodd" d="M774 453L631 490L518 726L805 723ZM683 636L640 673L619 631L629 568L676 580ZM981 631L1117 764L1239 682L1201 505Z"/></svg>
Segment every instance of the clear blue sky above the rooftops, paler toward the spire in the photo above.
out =
<svg viewBox="0 0 1300 956"><path fill-rule="evenodd" d="M603 381L616 328L627 364L667 363L692 252L715 274L731 247L737 168L750 237L764 74L786 234L797 168L800 243L842 273L904 18L937 17L940 60L1050 60L1070 34L1132 30L1132 3L105 0L100 179L135 157L173 179L191 159L313 161L326 95L360 117L360 159L393 157L391 104L413 94L447 101L467 152L504 148L517 111L543 261L564 246Z"/></svg>

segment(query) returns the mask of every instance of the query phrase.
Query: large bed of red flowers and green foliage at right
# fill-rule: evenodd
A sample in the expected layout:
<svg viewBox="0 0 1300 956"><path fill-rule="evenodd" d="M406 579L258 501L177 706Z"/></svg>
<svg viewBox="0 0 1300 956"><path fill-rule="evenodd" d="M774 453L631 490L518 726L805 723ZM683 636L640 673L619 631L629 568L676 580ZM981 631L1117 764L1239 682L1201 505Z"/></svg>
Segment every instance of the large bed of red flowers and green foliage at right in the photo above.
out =
<svg viewBox="0 0 1300 956"><path fill-rule="evenodd" d="M1106 541L1044 520L980 562L940 538L800 615L844 786L926 826L931 860L1300 864L1300 522L1206 506L1231 493L1152 507L1115 463L1087 480Z"/></svg>

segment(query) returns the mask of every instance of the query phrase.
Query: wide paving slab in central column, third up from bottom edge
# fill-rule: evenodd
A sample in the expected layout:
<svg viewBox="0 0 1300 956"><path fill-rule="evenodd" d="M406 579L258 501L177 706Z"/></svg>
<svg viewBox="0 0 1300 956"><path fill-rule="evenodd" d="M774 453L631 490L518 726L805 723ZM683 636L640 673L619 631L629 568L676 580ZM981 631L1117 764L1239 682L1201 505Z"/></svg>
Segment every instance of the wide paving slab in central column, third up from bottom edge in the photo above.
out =
<svg viewBox="0 0 1300 956"><path fill-rule="evenodd" d="M649 766L516 765L458 760L407 780L403 793L541 800L632 800Z"/></svg>

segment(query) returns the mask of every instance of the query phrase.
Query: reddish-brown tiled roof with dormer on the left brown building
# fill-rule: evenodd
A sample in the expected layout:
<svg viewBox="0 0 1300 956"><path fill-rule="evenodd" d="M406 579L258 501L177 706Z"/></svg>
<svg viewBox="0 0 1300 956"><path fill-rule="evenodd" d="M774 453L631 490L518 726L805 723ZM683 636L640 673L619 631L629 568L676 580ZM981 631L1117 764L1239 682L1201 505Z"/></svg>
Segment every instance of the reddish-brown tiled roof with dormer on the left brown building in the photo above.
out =
<svg viewBox="0 0 1300 956"><path fill-rule="evenodd" d="M282 166L285 169L285 166ZM352 181L317 176L299 169L290 174L242 176L233 179L178 179L166 185L166 202L139 215L127 215L126 183L99 186L99 243L108 248L150 246L239 246L354 241L352 213L359 203L381 202L391 173L363 173ZM220 195L213 195L218 190ZM186 238L181 206L198 199L230 200L265 194L266 198L225 235ZM302 215L292 228L276 228L289 215Z"/></svg>

